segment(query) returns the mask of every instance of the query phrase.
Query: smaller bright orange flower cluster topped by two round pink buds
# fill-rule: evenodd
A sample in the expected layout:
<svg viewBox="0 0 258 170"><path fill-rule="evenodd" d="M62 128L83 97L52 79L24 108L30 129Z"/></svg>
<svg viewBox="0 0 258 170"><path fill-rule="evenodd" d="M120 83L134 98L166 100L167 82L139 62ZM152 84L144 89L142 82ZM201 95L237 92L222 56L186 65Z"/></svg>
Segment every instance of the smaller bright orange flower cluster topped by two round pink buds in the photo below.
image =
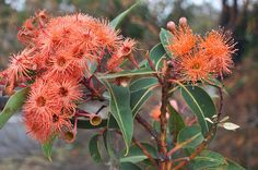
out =
<svg viewBox="0 0 258 170"><path fill-rule="evenodd" d="M202 38L192 33L185 17L179 20L178 28L174 22L168 22L167 28L173 35L167 49L175 59L177 80L195 84L231 73L236 44L230 32L211 31Z"/></svg>

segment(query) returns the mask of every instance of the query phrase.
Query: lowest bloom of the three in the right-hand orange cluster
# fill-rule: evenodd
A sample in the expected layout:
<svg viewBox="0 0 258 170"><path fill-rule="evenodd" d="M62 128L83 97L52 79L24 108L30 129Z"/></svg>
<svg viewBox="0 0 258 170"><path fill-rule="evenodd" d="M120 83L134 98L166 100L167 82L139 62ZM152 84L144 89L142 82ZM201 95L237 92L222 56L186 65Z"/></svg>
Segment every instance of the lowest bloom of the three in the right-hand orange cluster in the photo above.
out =
<svg viewBox="0 0 258 170"><path fill-rule="evenodd" d="M202 52L185 56L176 61L175 71L179 81L196 83L207 81L210 76L210 64Z"/></svg>

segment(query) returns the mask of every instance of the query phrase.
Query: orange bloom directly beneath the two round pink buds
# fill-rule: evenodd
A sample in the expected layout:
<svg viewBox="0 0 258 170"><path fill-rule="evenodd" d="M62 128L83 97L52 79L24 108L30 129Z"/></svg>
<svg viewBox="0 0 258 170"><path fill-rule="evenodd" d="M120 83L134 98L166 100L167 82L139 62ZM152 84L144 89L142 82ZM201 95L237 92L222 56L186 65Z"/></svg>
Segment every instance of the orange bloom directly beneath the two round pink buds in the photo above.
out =
<svg viewBox="0 0 258 170"><path fill-rule="evenodd" d="M191 49L195 48L198 37L192 34L191 28L188 25L179 26L178 29L175 29L174 36L169 39L169 45L167 49L175 56L181 57L191 52Z"/></svg>

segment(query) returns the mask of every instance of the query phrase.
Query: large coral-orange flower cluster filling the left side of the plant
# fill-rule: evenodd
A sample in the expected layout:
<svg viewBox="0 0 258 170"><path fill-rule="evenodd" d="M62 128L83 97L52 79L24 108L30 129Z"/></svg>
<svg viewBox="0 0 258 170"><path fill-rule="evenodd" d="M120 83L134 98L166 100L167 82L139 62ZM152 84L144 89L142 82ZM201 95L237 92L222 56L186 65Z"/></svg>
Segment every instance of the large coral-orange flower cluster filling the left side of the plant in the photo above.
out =
<svg viewBox="0 0 258 170"><path fill-rule="evenodd" d="M86 14L49 17L39 11L23 24L17 34L25 49L10 59L1 73L5 93L17 85L31 85L24 105L24 122L28 134L39 142L52 135L72 132L70 118L82 101L81 81L87 77L89 62L113 70L133 50L134 40L125 39L106 20Z"/></svg>

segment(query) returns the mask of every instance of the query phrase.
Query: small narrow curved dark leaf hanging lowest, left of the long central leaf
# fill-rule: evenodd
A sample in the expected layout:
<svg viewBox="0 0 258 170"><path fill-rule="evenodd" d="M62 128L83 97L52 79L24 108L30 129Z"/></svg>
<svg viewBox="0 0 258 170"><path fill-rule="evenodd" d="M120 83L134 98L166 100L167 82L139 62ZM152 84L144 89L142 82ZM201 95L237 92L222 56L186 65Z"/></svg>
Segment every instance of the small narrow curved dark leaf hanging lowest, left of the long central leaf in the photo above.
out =
<svg viewBox="0 0 258 170"><path fill-rule="evenodd" d="M90 150L92 159L95 162L102 161L102 156L101 156L99 148L98 148L99 147L98 146L98 137L99 137L99 134L95 134L92 136L92 138L89 142L89 150Z"/></svg>

